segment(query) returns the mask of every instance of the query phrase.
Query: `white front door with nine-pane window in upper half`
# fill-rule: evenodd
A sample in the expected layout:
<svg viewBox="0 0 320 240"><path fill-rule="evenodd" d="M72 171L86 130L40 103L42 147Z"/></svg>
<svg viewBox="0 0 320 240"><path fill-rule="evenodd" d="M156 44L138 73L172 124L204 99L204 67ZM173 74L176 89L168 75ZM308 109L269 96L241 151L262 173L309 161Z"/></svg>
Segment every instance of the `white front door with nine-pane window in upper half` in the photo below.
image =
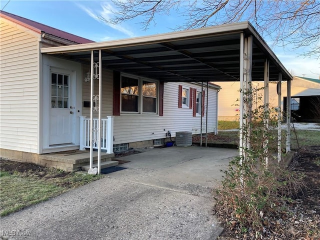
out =
<svg viewBox="0 0 320 240"><path fill-rule="evenodd" d="M50 82L49 145L69 144L74 138L71 73L51 71Z"/></svg>

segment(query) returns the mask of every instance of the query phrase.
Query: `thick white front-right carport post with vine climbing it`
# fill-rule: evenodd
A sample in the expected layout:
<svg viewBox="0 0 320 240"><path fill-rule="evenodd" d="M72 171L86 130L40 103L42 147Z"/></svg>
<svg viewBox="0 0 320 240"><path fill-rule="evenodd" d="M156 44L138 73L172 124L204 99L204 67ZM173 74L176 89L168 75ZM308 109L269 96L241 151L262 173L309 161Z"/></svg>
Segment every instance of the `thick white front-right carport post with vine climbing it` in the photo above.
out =
<svg viewBox="0 0 320 240"><path fill-rule="evenodd" d="M240 116L239 116L239 156L240 165L248 160L250 149L251 121L251 71L252 71L252 36L240 36ZM241 179L242 181L242 179Z"/></svg>

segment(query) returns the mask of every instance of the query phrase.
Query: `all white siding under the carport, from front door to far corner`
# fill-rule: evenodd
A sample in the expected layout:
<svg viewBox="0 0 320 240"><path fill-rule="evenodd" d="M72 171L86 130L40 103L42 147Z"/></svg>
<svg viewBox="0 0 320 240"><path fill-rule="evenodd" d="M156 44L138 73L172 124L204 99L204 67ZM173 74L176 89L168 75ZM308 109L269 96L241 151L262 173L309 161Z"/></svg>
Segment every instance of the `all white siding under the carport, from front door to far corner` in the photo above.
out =
<svg viewBox="0 0 320 240"><path fill-rule="evenodd" d="M84 68L84 78L87 68ZM112 71L102 73L102 113L101 117L112 115L113 105L113 76ZM95 90L97 83L94 82ZM201 85L183 83L183 86L201 90ZM82 100L90 100L90 84L82 81ZM113 144L129 143L143 140L165 138L169 130L172 137L177 131L191 131L192 134L200 133L200 117L193 117L192 108L178 108L178 83L165 82L163 89L163 116L157 114L129 114L121 113L114 116ZM82 101L82 104L83 104ZM216 89L209 88L208 100L208 132L214 132L216 126ZM206 107L206 106L205 106ZM82 115L89 117L90 108L82 107ZM94 114L97 117L97 114ZM205 115L202 118L202 131L205 130ZM165 129L165 130L163 130Z"/></svg>

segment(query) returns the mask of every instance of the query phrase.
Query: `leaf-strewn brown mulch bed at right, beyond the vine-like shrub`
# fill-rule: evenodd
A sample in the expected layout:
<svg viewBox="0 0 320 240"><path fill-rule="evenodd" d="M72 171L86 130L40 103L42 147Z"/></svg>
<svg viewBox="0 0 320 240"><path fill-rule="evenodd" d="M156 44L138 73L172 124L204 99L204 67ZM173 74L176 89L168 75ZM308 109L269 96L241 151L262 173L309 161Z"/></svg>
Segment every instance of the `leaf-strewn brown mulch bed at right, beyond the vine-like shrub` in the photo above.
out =
<svg viewBox="0 0 320 240"><path fill-rule="evenodd" d="M275 212L273 219L267 219L272 230L266 229L270 234L263 239L320 239L320 146L300 148L293 154L288 169L304 175L305 187L292 196L293 201L288 203L287 212ZM218 239L239 238L225 227ZM241 239L256 238L247 236Z"/></svg>

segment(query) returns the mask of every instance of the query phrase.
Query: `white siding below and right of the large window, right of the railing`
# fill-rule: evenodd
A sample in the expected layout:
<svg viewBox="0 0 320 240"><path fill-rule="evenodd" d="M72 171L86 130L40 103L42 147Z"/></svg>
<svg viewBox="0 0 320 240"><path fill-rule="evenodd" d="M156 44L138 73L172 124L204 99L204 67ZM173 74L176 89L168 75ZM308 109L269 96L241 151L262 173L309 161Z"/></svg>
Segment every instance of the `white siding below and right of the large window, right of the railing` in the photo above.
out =
<svg viewBox="0 0 320 240"><path fill-rule="evenodd" d="M200 85L183 83L183 86L197 88ZM178 108L178 83L165 82L163 89L163 116L120 115L114 117L114 144L164 138L169 130L172 137L177 131L200 133L200 117L193 117L192 108ZM215 131L216 90L209 88L208 132ZM205 106L206 107L206 106ZM205 116L202 118L202 131L205 130ZM165 130L163 130L165 129Z"/></svg>

